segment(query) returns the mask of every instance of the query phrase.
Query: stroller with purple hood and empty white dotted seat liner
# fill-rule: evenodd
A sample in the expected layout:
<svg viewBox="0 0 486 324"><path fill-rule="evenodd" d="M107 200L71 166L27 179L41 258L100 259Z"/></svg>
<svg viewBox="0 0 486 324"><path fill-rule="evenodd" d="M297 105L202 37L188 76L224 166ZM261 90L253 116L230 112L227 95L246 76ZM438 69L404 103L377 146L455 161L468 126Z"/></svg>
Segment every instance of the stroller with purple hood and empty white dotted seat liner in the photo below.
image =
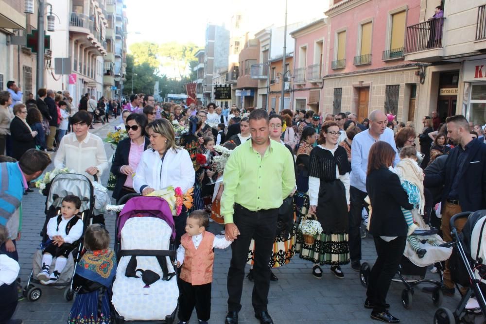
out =
<svg viewBox="0 0 486 324"><path fill-rule="evenodd" d="M115 323L174 323L179 298L174 238L174 219L164 199L127 201L116 224Z"/></svg>

